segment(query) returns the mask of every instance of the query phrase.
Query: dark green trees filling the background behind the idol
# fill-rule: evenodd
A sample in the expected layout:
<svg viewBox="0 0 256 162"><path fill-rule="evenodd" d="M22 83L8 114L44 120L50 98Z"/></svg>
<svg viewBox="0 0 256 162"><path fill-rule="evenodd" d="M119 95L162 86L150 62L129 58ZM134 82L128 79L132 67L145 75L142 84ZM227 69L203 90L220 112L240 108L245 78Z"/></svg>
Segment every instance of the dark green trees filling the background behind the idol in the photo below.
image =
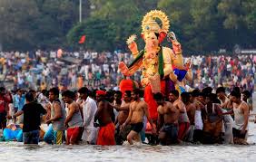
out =
<svg viewBox="0 0 256 162"><path fill-rule="evenodd" d="M141 34L143 15L160 9L184 52L231 51L235 44L255 48L255 7L255 0L83 0L79 23L78 0L1 0L0 43L5 51L127 51L125 40ZM138 43L143 48L143 40Z"/></svg>

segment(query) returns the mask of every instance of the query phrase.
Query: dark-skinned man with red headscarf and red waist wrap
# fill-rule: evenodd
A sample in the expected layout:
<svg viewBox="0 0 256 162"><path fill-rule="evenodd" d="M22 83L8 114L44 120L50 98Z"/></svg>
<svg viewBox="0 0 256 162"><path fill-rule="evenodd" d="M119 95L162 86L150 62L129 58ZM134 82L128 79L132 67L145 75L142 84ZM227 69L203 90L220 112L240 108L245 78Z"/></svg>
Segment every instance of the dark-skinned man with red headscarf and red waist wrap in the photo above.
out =
<svg viewBox="0 0 256 162"><path fill-rule="evenodd" d="M98 110L95 113L94 124L97 126L99 121L99 133L97 145L115 145L114 141L114 124L113 124L113 107L105 100L105 91L96 91L96 100Z"/></svg>

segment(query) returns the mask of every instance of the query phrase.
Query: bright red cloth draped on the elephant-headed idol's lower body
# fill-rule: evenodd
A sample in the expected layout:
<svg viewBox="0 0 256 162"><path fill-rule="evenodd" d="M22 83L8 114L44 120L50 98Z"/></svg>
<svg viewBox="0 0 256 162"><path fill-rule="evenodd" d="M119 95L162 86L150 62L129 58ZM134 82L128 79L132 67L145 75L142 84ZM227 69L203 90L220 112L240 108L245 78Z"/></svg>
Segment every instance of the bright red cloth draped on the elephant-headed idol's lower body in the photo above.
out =
<svg viewBox="0 0 256 162"><path fill-rule="evenodd" d="M163 95L165 95L165 81L161 81L161 92L162 92ZM158 114L157 114L158 105L157 105L156 101L153 99L153 92L152 92L152 89L151 89L151 85L147 85L145 87L144 100L148 104L150 118L151 119L157 119L157 117L158 117Z"/></svg>

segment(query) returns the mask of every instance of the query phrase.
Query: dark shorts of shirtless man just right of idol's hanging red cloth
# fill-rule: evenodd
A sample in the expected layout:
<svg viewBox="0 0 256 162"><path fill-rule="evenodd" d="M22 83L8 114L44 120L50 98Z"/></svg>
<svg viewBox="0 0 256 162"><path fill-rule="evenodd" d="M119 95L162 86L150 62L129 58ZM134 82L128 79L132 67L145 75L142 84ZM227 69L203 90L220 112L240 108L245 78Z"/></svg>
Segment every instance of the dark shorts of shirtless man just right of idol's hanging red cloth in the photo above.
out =
<svg viewBox="0 0 256 162"><path fill-rule="evenodd" d="M171 141L171 143L177 143L178 139L178 125L177 124L164 124L160 130L166 133L166 138Z"/></svg>

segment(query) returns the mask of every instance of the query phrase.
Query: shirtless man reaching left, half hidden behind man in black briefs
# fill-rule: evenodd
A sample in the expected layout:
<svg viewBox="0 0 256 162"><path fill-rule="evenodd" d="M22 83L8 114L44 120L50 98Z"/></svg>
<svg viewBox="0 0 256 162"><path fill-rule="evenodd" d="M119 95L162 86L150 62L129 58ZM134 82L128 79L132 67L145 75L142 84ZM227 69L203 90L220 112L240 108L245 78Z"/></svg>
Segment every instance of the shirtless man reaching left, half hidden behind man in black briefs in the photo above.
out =
<svg viewBox="0 0 256 162"><path fill-rule="evenodd" d="M120 126L122 126L125 120L128 118L131 100L132 92L125 91L121 107L113 106L113 108L119 112L116 120L116 129L114 135L116 145L122 145L123 141L126 140L127 135L131 131L131 125L126 125L125 128L120 129Z"/></svg>

